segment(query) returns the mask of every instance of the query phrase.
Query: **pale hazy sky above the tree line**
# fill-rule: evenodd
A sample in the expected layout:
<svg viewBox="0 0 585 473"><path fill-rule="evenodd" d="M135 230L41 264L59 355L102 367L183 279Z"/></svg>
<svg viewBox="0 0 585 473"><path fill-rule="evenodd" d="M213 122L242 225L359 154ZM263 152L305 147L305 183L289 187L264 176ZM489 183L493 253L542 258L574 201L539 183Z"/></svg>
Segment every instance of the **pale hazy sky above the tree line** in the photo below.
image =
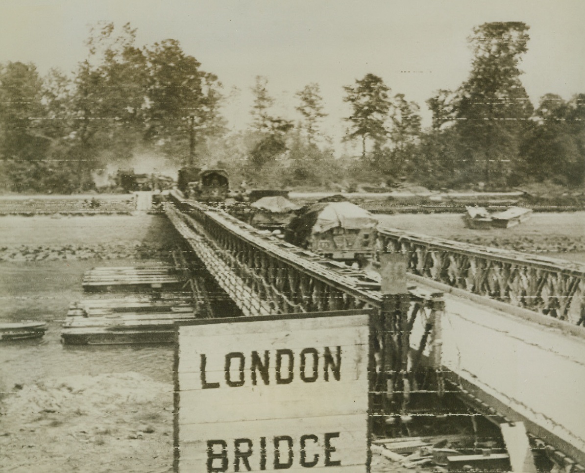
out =
<svg viewBox="0 0 585 473"><path fill-rule="evenodd" d="M350 115L344 85L368 73L421 106L456 89L471 70L474 26L530 26L521 80L535 105L546 93L585 92L585 0L0 0L0 63L33 62L41 74L73 71L100 21L137 29L137 45L173 38L216 74L232 129L250 122L256 75L268 79L276 115L298 120L295 92L316 82L339 143Z"/></svg>

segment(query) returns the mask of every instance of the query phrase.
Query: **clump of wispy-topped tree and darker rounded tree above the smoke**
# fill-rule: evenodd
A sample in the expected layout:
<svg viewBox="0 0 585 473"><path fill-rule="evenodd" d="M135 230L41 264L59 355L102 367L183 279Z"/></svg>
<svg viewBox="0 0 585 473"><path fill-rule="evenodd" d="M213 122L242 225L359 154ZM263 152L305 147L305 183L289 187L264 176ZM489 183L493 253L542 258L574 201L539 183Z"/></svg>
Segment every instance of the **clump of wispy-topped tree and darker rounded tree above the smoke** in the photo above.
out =
<svg viewBox="0 0 585 473"><path fill-rule="evenodd" d="M75 78L80 154L123 160L150 147L177 161L222 129L217 77L185 54L177 40L137 47L129 23L100 23Z"/></svg>

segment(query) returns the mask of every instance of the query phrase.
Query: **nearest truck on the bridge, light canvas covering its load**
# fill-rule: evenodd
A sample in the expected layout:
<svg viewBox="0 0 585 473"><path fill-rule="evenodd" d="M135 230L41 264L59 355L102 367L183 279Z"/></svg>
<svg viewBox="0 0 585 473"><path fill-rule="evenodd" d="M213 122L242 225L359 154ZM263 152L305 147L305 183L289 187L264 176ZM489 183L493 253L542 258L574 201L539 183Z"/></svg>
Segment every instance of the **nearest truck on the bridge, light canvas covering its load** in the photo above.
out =
<svg viewBox="0 0 585 473"><path fill-rule="evenodd" d="M375 250L378 220L351 202L319 202L291 220L289 243L340 261L360 261Z"/></svg>

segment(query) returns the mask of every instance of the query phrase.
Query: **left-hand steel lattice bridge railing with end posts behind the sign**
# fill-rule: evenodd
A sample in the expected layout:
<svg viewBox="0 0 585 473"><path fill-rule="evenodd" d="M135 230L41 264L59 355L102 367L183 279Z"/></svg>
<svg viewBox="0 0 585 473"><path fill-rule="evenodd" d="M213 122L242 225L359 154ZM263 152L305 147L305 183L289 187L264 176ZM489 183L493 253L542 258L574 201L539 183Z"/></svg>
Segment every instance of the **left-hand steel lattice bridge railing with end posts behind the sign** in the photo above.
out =
<svg viewBox="0 0 585 473"><path fill-rule="evenodd" d="M394 386L416 389L414 373L428 369L419 364L422 355L431 360L431 370L441 372L441 337L433 330L444 312L441 292L409 288L402 297L406 328L399 327L396 311L388 308L379 284L360 272L278 240L226 213L177 196L173 200L174 205L165 206L166 215L244 315L374 309L371 346L376 368L371 391L377 399L374 404L384 412L389 412L383 402L388 379ZM410 338L415 325L421 327L418 344L414 336ZM417 347L417 356L409 361L410 346Z"/></svg>

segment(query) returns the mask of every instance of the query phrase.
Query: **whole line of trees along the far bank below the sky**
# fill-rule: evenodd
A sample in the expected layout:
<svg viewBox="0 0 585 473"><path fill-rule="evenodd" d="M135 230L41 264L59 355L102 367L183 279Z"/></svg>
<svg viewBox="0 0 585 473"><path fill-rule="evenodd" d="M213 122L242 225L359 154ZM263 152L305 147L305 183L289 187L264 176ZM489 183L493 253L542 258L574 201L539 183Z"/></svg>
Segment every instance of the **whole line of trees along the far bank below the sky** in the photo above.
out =
<svg viewBox="0 0 585 473"><path fill-rule="evenodd" d="M534 106L520 80L529 27L485 23L468 41L469 77L420 107L368 73L343 87L343 140L359 156L335 156L322 132L327 116L318 84L295 94L295 122L276 115L268 80L252 87L251 121L228 133L219 78L202 70L177 40L136 45L129 24L91 30L88 54L73 77L34 64L0 65L0 188L76 192L92 172L124 167L135 154L175 165L216 165L256 185L389 184L430 188L507 188L527 182L583 185L585 94L544 95Z"/></svg>

